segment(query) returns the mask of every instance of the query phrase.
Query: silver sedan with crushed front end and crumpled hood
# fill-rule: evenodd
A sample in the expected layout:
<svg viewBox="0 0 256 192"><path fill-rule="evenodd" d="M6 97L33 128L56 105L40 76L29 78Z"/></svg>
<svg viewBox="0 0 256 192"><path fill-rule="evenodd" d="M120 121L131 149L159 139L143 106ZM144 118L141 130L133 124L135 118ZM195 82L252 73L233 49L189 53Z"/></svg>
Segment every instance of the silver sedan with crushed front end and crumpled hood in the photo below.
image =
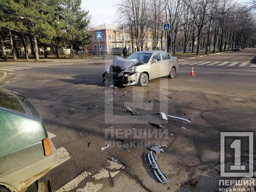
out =
<svg viewBox="0 0 256 192"><path fill-rule="evenodd" d="M175 77L178 68L178 58L165 51L139 51L127 59L115 57L113 64L102 74L102 78L103 81L113 81L123 86L145 86L151 79Z"/></svg>

